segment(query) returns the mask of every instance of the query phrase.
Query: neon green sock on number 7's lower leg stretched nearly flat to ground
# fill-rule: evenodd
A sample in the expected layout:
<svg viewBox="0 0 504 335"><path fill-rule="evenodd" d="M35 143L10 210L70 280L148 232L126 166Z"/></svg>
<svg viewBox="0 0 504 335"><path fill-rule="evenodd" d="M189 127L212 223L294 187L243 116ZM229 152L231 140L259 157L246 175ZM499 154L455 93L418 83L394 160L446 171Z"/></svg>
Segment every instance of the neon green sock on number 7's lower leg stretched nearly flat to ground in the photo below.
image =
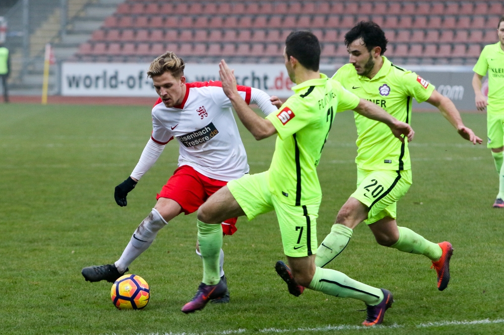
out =
<svg viewBox="0 0 504 335"><path fill-rule="evenodd" d="M308 288L335 297L358 299L370 306L377 305L383 300L382 290L353 280L336 270L320 267L315 270Z"/></svg>

